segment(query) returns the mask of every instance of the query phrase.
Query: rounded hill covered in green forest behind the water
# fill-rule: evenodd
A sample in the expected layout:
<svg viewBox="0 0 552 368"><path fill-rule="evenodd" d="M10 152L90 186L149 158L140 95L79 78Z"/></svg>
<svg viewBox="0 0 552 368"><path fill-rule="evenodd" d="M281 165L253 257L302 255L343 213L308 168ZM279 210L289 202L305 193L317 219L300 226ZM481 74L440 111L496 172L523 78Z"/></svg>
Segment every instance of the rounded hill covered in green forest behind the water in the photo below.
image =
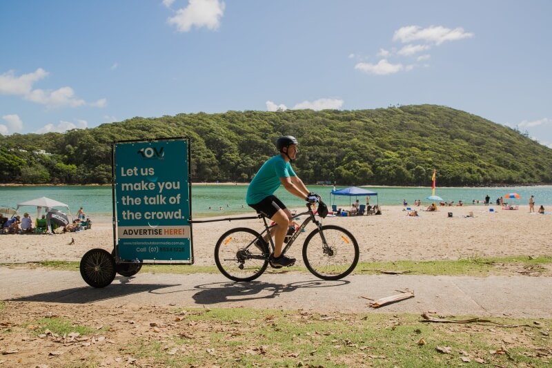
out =
<svg viewBox="0 0 552 368"><path fill-rule="evenodd" d="M433 168L440 186L552 183L551 148L433 105L134 117L63 134L0 135L0 182L109 183L111 142L179 136L192 139L193 182L247 182L280 135L299 140L294 167L307 183L428 186Z"/></svg>

